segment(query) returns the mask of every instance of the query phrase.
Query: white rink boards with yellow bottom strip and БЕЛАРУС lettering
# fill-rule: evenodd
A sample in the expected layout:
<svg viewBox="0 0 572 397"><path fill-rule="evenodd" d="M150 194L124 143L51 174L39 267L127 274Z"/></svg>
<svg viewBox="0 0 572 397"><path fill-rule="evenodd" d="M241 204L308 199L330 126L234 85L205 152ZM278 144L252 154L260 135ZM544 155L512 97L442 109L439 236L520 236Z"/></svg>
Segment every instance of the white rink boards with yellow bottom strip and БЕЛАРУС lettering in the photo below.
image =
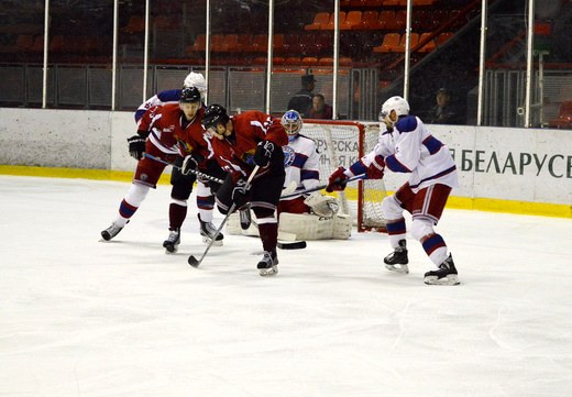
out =
<svg viewBox="0 0 572 397"><path fill-rule="evenodd" d="M451 148L460 170L453 207L572 218L571 131L430 129ZM135 132L131 112L0 108L0 173L14 166L30 174L30 167L132 173L125 140ZM406 178L387 173L387 189Z"/></svg>

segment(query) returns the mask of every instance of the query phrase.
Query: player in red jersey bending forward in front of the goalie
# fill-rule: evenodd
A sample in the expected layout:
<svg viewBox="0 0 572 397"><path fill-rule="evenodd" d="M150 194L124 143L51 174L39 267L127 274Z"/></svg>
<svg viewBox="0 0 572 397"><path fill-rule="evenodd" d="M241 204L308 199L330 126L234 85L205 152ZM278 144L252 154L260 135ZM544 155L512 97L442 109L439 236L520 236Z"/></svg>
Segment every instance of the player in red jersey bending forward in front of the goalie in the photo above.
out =
<svg viewBox="0 0 572 397"><path fill-rule="evenodd" d="M217 192L217 207L228 213L232 203L242 208L250 203L256 217L264 256L257 268L261 276L278 273L276 255L278 223L276 207L284 185L284 153L288 136L278 119L251 110L228 115L219 104L207 107L202 125L212 135L212 148L221 167L229 172ZM260 166L250 190L245 181Z"/></svg>

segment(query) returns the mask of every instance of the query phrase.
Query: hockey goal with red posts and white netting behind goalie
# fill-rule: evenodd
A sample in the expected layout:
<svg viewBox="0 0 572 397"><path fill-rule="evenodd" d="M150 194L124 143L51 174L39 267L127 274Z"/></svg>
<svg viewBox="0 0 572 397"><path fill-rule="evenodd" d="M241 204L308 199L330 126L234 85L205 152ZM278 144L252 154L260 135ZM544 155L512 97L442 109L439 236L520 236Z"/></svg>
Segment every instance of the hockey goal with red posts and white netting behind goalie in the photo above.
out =
<svg viewBox="0 0 572 397"><path fill-rule="evenodd" d="M336 168L348 168L373 150L380 126L355 121L304 120L301 134L316 141L320 153L320 183L326 185ZM337 196L341 211L352 216L359 232L386 231L381 211L386 196L383 179L352 181Z"/></svg>

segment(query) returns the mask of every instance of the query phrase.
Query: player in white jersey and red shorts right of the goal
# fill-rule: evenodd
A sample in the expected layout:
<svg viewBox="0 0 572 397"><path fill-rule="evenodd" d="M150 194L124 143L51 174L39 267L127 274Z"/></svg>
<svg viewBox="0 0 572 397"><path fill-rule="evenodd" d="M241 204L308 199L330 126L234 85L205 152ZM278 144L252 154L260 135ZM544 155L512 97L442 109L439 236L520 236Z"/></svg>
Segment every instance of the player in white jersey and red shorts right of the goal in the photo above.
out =
<svg viewBox="0 0 572 397"><path fill-rule="evenodd" d="M380 112L380 141L375 148L350 168L339 167L329 179L327 190L343 190L349 177L365 174L383 178L385 167L409 173L409 180L382 202L383 216L394 252L384 258L385 267L409 273L406 224L403 211L411 213L410 234L418 240L437 271L425 274L429 285L458 285L458 272L443 238L433 225L441 218L451 190L459 186L457 167L447 145L432 136L422 121L409 115L409 103L402 97L385 101Z"/></svg>

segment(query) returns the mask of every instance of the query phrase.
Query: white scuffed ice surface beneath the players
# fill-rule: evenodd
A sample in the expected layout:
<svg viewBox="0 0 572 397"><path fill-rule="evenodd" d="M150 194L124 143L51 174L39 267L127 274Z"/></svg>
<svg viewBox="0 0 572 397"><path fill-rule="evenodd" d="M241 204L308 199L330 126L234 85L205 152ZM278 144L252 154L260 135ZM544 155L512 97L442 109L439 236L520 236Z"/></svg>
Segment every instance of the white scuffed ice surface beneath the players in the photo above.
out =
<svg viewBox="0 0 572 397"><path fill-rule="evenodd" d="M0 396L572 396L572 222L447 209L460 286L408 239L206 245L195 195L166 255L169 186L111 242L129 184L0 176ZM222 216L216 214L216 223Z"/></svg>

